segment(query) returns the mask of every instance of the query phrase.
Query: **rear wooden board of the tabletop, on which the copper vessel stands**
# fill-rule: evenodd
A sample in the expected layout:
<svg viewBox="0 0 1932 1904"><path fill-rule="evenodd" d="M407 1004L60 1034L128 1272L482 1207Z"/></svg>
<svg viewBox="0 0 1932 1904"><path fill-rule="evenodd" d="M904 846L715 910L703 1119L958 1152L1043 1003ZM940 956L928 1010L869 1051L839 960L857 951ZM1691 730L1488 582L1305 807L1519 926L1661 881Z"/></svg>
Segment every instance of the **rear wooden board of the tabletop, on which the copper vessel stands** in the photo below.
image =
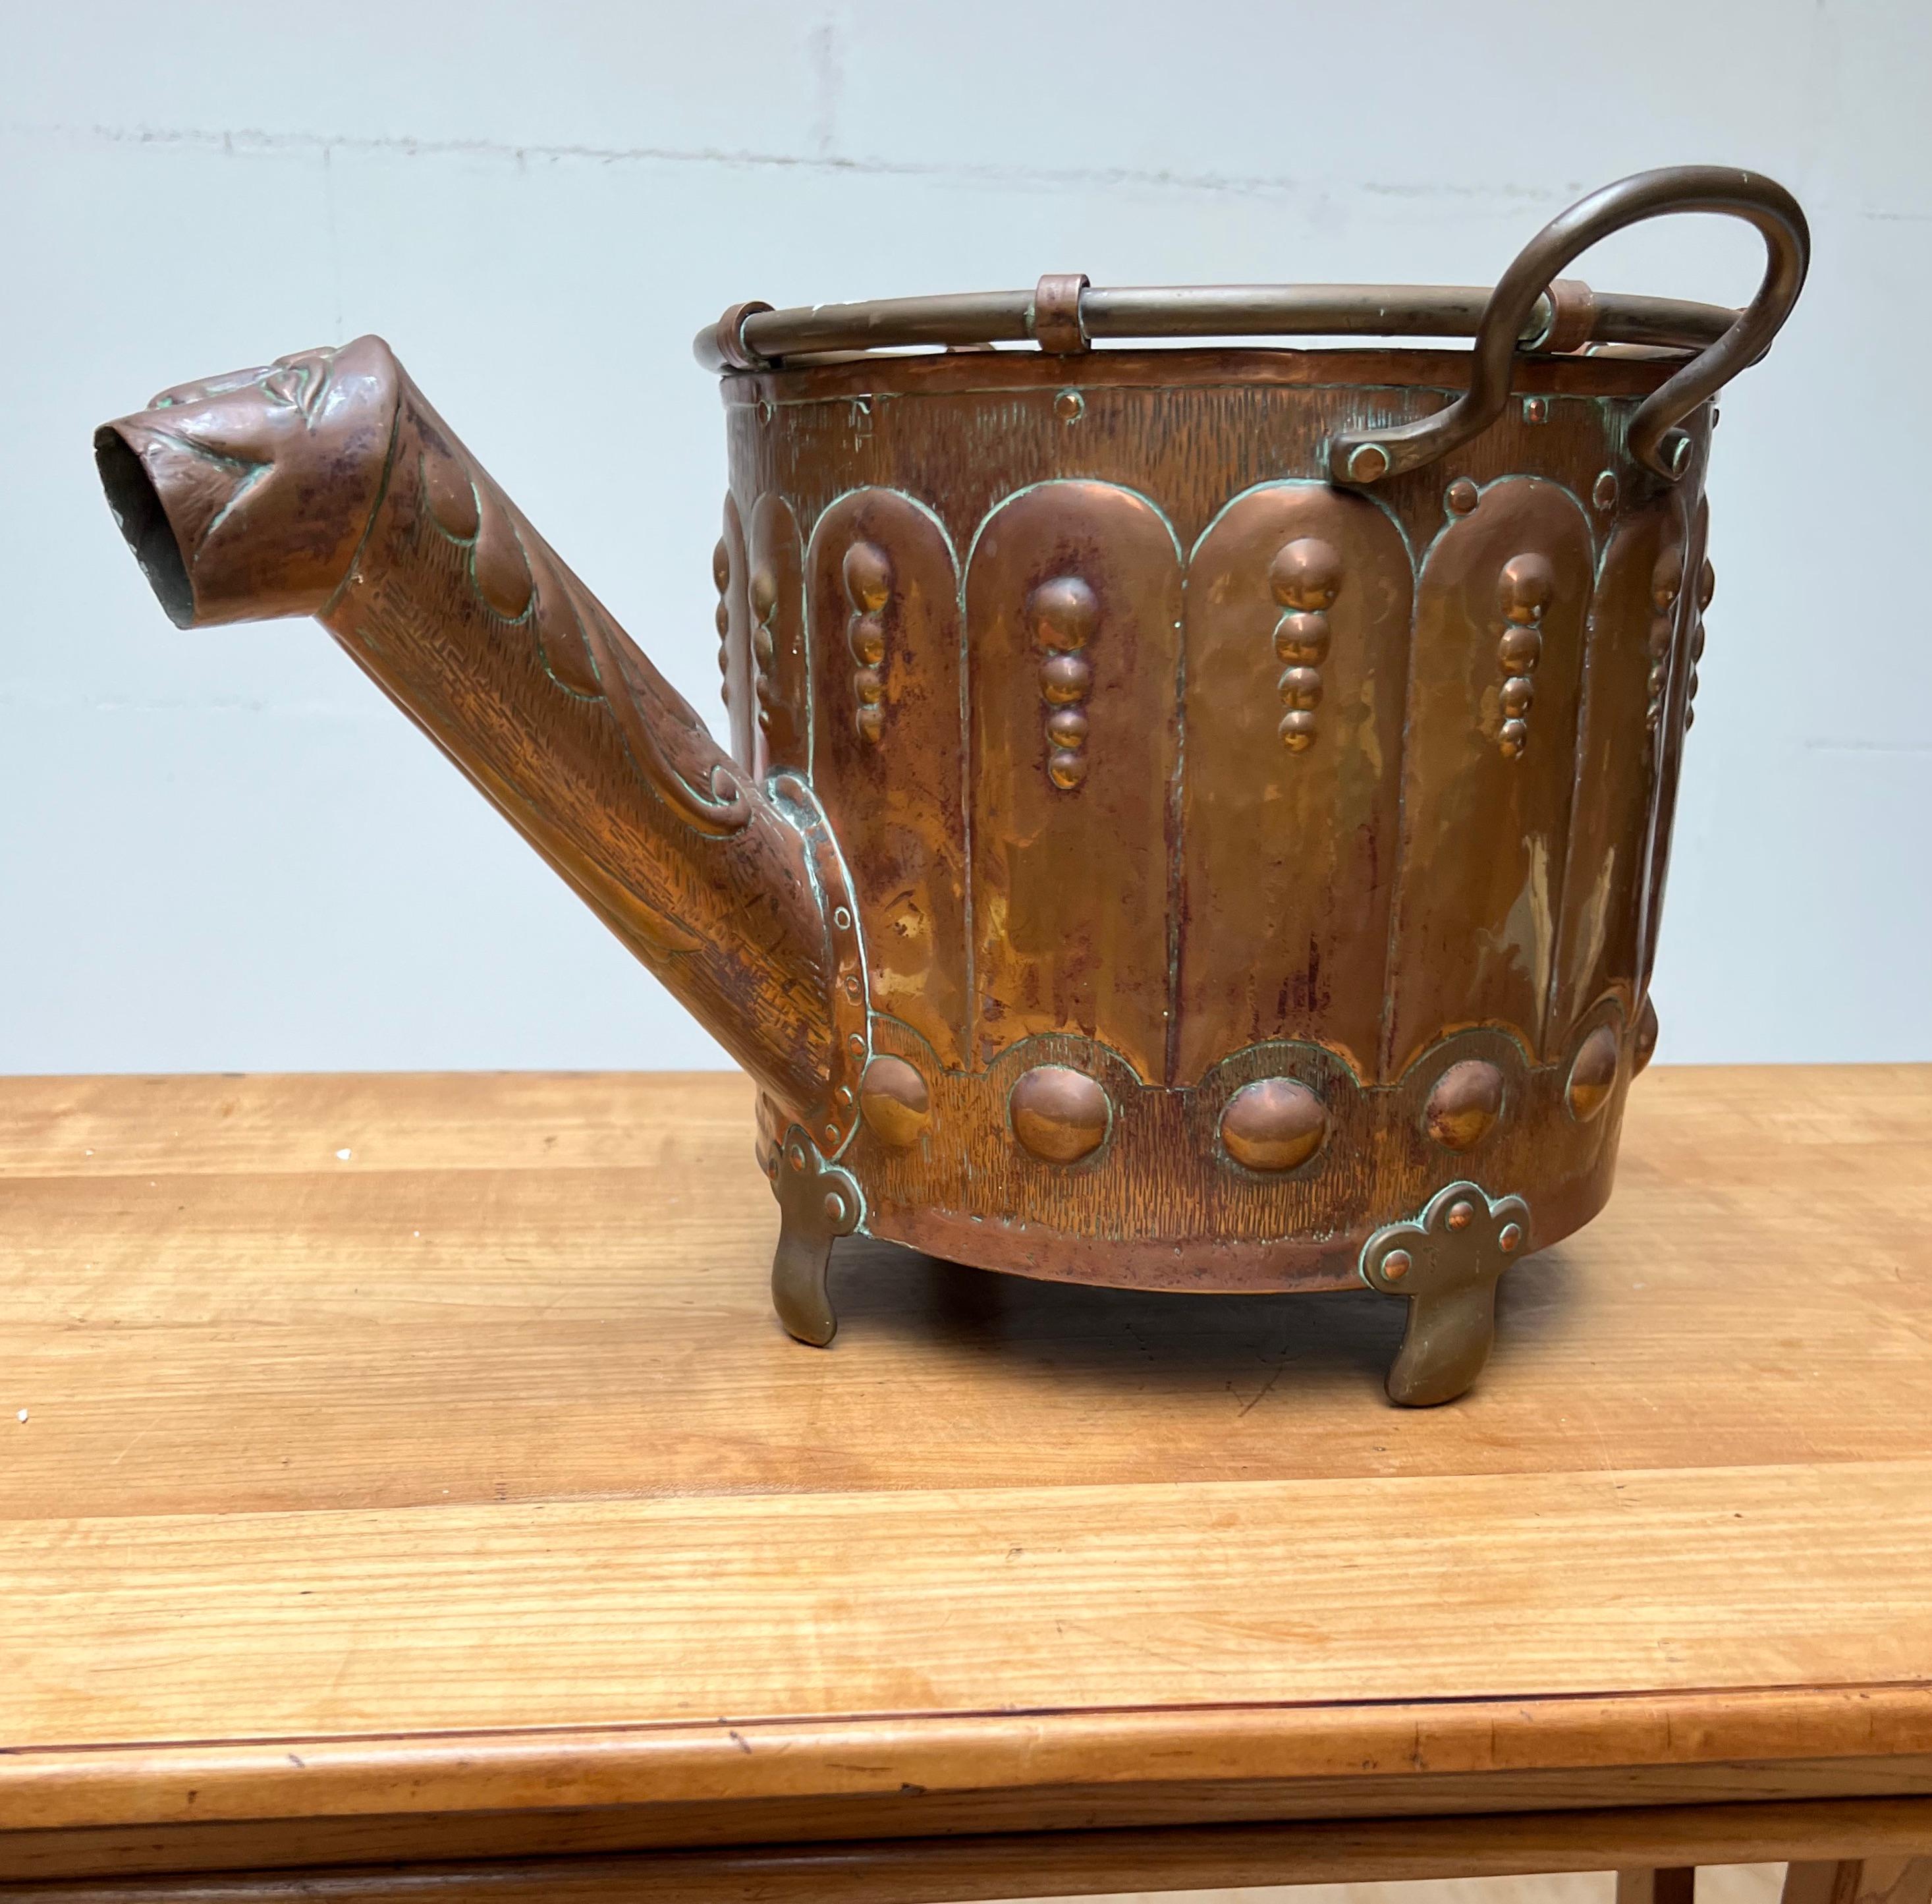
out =
<svg viewBox="0 0 1932 1904"><path fill-rule="evenodd" d="M1646 1073L1609 1208L1408 1415L1366 1291L846 1243L800 1349L734 1077L12 1079L0 1515L1932 1457L1928 1137L1928 1069Z"/></svg>

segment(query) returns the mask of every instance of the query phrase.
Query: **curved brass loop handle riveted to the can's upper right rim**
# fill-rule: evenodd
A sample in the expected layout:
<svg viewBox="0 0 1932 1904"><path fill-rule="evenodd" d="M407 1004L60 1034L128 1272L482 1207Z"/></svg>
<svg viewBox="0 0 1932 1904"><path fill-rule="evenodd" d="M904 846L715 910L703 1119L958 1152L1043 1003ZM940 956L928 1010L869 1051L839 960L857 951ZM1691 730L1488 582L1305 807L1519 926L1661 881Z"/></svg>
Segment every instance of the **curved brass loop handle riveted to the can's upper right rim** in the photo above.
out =
<svg viewBox="0 0 1932 1904"><path fill-rule="evenodd" d="M1675 425L1764 356L1804 288L1810 265L1804 213L1783 186L1756 172L1733 172L1729 166L1636 172L1592 191L1551 218L1490 292L1476 331L1468 390L1447 410L1397 429L1339 433L1329 443L1329 477L1337 483L1378 483L1387 476L1420 470L1488 429L1509 402L1517 340L1536 311L1536 300L1557 273L1600 238L1621 232L1627 224L1685 211L1721 213L1756 226L1768 261L1764 282L1739 311L1737 323L1646 396L1631 418L1631 454L1654 476L1675 481L1690 456L1690 439Z"/></svg>

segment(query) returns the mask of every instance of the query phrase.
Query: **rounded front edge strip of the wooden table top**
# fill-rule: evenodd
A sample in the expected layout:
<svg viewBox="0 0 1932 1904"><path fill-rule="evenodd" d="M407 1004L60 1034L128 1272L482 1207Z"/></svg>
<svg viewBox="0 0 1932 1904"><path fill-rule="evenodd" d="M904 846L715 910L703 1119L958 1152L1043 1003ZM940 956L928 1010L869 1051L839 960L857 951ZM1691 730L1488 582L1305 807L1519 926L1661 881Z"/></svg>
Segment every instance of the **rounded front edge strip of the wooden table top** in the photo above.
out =
<svg viewBox="0 0 1932 1904"><path fill-rule="evenodd" d="M0 1745L0 1831L1932 1753L1932 1682Z"/></svg>

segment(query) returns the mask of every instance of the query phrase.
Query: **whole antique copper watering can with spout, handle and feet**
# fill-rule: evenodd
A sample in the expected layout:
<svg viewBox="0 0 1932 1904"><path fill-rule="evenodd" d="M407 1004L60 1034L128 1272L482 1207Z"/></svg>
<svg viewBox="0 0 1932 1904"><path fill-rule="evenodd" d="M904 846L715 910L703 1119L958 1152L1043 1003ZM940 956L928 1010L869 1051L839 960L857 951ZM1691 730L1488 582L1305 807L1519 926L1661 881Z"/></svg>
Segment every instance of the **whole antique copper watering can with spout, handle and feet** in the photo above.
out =
<svg viewBox="0 0 1932 1904"><path fill-rule="evenodd" d="M1747 309L1559 273L1662 213ZM757 1081L773 1297L864 1231L1408 1303L1461 1394L1609 1195L1712 574L1712 396L1804 280L1748 172L1646 172L1493 292L1034 292L697 340L724 754L367 336L95 439L178 626L315 615ZM1115 340L1474 336L1426 348ZM999 346L1016 348L999 348ZM908 348L925 346L925 348Z"/></svg>

